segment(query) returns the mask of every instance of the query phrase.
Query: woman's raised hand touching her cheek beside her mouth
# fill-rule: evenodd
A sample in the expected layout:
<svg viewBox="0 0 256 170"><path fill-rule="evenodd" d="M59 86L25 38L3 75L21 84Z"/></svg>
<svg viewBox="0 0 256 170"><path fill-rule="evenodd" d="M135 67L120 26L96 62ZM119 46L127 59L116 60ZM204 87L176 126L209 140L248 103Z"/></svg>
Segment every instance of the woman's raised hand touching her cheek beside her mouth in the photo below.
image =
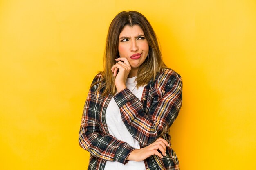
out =
<svg viewBox="0 0 256 170"><path fill-rule="evenodd" d="M126 88L126 78L130 73L131 66L126 57L120 57L115 60L118 62L115 65L113 65L111 70L114 73L113 76L116 77L115 86L117 88L117 92L120 92L122 89ZM119 70L118 73L117 70Z"/></svg>

